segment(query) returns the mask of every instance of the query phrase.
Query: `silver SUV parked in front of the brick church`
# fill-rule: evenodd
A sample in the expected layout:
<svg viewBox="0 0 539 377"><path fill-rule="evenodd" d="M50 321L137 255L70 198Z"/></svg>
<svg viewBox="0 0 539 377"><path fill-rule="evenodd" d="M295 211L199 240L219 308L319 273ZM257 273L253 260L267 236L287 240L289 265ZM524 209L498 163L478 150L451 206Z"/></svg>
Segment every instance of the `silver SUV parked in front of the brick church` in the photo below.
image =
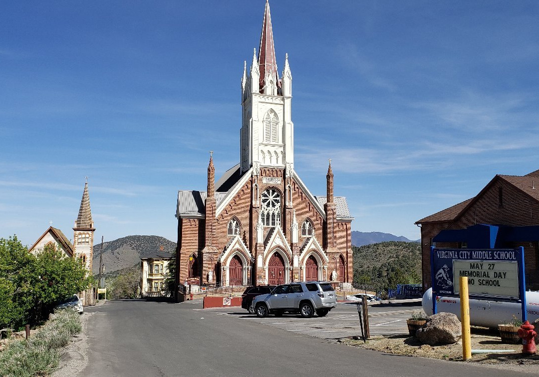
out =
<svg viewBox="0 0 539 377"><path fill-rule="evenodd" d="M299 312L305 318L316 312L323 317L336 308L337 297L329 282L290 283L278 285L271 293L255 297L251 306L260 318L269 314L282 316L284 312Z"/></svg>

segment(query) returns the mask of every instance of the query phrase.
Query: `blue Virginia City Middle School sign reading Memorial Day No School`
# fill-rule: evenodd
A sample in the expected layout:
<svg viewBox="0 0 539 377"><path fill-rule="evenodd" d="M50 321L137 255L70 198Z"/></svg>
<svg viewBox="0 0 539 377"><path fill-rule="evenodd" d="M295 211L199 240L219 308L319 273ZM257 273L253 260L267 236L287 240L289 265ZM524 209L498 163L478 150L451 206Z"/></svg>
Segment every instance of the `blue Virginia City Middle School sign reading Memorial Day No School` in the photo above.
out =
<svg viewBox="0 0 539 377"><path fill-rule="evenodd" d="M460 294L460 276L468 277L468 295L476 299L526 303L524 248L437 249L431 248L433 297ZM436 312L436 299L433 299ZM523 313L526 310L523 309Z"/></svg>

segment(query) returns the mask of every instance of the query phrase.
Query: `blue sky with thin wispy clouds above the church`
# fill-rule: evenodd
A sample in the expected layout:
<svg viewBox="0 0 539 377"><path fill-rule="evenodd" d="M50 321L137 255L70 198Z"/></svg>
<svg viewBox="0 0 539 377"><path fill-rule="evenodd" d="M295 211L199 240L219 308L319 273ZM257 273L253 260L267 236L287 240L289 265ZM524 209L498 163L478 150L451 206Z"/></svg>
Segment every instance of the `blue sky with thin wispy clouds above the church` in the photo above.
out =
<svg viewBox="0 0 539 377"><path fill-rule="evenodd" d="M239 159L240 78L264 0L0 3L0 237L176 241L177 190ZM353 230L413 223L539 169L539 2L272 0L295 170Z"/></svg>

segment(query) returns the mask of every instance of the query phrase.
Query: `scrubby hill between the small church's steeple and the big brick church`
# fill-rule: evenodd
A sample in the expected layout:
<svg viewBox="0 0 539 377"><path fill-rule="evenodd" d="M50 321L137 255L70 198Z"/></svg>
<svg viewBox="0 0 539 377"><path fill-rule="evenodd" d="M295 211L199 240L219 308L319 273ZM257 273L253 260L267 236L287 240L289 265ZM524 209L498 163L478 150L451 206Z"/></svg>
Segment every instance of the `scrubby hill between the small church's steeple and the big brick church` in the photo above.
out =
<svg viewBox="0 0 539 377"><path fill-rule="evenodd" d="M103 263L105 273L133 267L139 263L142 256L157 252L160 247L164 251L174 253L176 242L160 236L133 235L119 238L118 240L103 242ZM94 245L93 273L99 273L99 256L101 255L101 243Z"/></svg>

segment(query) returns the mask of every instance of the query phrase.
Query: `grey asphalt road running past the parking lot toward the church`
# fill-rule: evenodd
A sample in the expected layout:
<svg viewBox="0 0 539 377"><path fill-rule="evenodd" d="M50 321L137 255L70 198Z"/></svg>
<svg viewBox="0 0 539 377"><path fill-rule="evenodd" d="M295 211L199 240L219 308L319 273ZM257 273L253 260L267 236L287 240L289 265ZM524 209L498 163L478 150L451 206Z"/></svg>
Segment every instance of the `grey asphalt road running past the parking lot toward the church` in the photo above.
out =
<svg viewBox="0 0 539 377"><path fill-rule="evenodd" d="M302 327L299 316L261 320L240 308L201 310L201 307L199 300L181 304L128 300L108 301L88 308L87 312L95 314L88 322L89 363L80 375L508 375L507 371L462 362L348 347L335 343L333 339L338 332L306 331L309 328ZM340 305L329 316L315 316L308 321L316 324L315 330L327 329L330 327L327 325L345 319L337 318L348 315L339 311L353 315L354 309L355 306ZM342 334L354 335L348 331L357 329L342 328L347 326L341 326ZM326 339L328 335L333 338ZM510 372L510 375L524 374Z"/></svg>

